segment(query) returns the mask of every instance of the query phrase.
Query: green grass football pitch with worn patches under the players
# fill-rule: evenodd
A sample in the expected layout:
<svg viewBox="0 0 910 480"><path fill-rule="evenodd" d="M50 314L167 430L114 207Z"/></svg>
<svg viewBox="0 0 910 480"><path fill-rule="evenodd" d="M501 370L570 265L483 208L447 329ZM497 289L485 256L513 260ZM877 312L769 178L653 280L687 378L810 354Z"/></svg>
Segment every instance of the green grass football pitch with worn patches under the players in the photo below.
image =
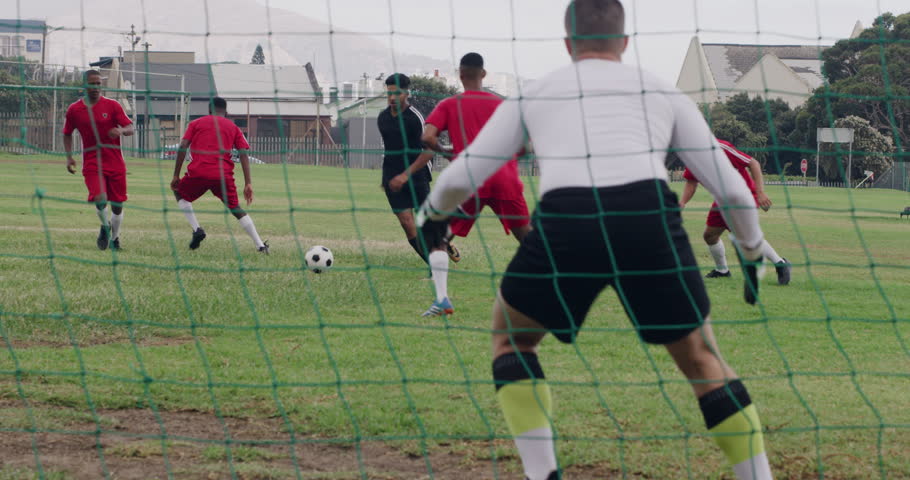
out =
<svg viewBox="0 0 910 480"><path fill-rule="evenodd" d="M209 237L190 251L171 162L128 164L112 252L95 247L97 217L61 158L0 156L0 479L521 478L490 378L492 298L515 248L495 219L458 244L456 314L427 320L432 283L377 171L254 166L262 256L211 196L196 202ZM757 307L738 270L708 287L772 466L908 479L910 221L897 213L910 198L768 191L762 226L791 285L769 275ZM684 214L703 267L708 205L702 189ZM335 254L328 274L303 268L316 244ZM732 478L688 385L612 292L575 346L548 338L541 361L567 478Z"/></svg>

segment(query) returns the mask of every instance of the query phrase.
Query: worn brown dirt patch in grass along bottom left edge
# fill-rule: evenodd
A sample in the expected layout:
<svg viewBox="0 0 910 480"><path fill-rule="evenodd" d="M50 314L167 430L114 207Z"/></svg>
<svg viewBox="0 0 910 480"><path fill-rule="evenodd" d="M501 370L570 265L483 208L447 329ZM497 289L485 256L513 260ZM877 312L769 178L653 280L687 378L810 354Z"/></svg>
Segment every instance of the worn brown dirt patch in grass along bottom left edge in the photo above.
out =
<svg viewBox="0 0 910 480"><path fill-rule="evenodd" d="M0 409L10 408L9 400ZM21 405L16 405L21 407ZM464 446L488 449L488 442L461 442L433 447L424 457L410 449L381 441L339 442L298 435L293 447L281 419L221 418L203 412L99 410L115 419L113 427L97 431L92 423L61 425L67 433L4 432L0 435L0 470L37 471L36 456L45 472L64 472L66 478L98 479L521 479L515 458L500 458L494 467L463 452ZM168 438L166 456L160 437ZM233 461L224 445L230 439ZM497 441L497 445L504 441ZM358 448L359 447L359 448ZM358 452L359 450L359 452ZM359 457L359 458L358 458ZM296 459L296 465L295 465ZM432 476L427 464L432 468ZM17 471L18 471L17 470ZM572 468L572 479L618 478L598 468Z"/></svg>

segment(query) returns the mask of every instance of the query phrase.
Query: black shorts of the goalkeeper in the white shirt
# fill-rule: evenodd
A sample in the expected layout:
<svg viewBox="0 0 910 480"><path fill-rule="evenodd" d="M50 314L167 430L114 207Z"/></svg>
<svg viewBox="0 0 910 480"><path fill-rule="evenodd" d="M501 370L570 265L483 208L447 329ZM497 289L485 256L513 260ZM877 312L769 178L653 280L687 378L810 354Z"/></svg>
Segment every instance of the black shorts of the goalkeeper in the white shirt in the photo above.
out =
<svg viewBox="0 0 910 480"><path fill-rule="evenodd" d="M659 180L546 193L506 269L503 298L571 343L610 285L642 340L683 338L710 303L678 205Z"/></svg>

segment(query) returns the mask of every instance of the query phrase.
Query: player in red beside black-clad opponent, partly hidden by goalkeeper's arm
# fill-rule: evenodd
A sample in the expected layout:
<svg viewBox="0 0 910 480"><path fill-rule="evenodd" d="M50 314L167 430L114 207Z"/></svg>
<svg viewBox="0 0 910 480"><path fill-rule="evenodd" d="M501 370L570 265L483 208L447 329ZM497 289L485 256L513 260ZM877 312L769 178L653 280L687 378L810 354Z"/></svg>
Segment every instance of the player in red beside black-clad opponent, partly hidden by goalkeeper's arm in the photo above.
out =
<svg viewBox="0 0 910 480"><path fill-rule="evenodd" d="M439 102L427 118L423 134L423 142L428 148L441 151L439 133L448 131L452 140L453 156L457 156L474 141L474 137L502 103L502 98L498 95L483 89L483 78L487 72L483 68L483 57L480 54L472 52L461 57L458 73L464 86L464 93ZM432 158L433 152L422 153L404 173L389 182L389 188L401 189L407 183L410 174L420 171ZM447 292L449 262L446 257L451 257L456 262L460 257L458 251L449 246L448 240L451 239L451 235L466 237L477 215L485 206L489 206L496 213L506 234L511 232L519 243L531 231L528 204L524 199L524 185L518 174L516 159L507 162L483 185L479 185L476 194L461 205L462 216L452 217L449 221L451 229L449 238L442 239L439 245L427 245L431 251L429 264L436 286L436 301L423 316L454 313Z"/></svg>

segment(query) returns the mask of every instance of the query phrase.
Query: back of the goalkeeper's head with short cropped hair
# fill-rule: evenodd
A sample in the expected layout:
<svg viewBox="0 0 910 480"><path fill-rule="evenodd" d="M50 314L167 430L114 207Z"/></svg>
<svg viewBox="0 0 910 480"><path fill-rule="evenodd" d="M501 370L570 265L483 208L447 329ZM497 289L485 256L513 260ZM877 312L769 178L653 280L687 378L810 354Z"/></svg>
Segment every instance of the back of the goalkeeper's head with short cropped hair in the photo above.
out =
<svg viewBox="0 0 910 480"><path fill-rule="evenodd" d="M572 0L566 7L566 35L576 52L621 52L625 23L619 0Z"/></svg>

